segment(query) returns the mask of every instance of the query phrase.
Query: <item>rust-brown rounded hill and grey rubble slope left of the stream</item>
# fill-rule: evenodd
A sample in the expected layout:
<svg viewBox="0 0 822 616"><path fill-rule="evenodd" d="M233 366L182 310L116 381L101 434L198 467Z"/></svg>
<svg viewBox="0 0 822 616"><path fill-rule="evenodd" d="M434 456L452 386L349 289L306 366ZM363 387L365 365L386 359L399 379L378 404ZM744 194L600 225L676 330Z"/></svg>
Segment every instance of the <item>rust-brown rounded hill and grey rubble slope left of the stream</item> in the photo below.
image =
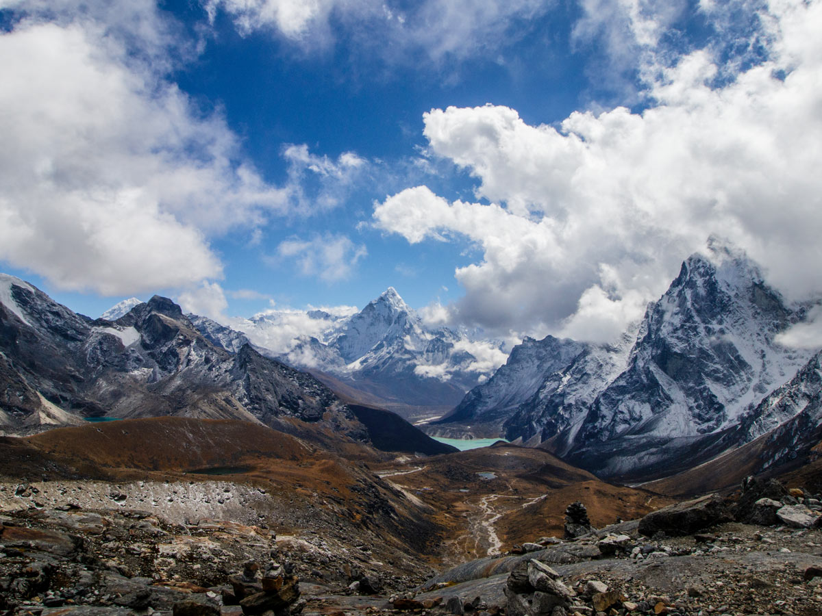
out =
<svg viewBox="0 0 822 616"><path fill-rule="evenodd" d="M0 443L0 609L171 614L228 599L250 560L257 577L306 585L415 586L438 540L425 511L362 462L247 422L114 421Z"/></svg>

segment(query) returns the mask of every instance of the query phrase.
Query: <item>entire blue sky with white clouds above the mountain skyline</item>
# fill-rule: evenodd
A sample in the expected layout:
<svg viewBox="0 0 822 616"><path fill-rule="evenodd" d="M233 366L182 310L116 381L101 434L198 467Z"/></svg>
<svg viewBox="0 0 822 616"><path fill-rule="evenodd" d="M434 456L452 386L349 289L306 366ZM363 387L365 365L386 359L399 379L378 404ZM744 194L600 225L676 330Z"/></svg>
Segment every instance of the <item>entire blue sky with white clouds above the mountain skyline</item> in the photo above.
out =
<svg viewBox="0 0 822 616"><path fill-rule="evenodd" d="M0 0L0 265L96 316L612 339L712 234L822 274L820 2Z"/></svg>

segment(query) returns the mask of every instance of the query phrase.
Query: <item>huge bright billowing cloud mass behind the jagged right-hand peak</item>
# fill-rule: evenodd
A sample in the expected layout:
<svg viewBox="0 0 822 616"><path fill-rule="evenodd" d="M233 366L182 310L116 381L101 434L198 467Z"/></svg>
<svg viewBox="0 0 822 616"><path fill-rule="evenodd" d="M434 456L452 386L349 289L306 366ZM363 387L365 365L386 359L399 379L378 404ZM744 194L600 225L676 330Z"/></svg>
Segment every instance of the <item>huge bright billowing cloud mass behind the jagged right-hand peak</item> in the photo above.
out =
<svg viewBox="0 0 822 616"><path fill-rule="evenodd" d="M714 233L787 297L819 292L822 2L770 2L759 23L765 57L732 79L710 48L651 54L641 112L559 126L492 105L426 113L432 154L477 178L477 202L416 186L375 205L376 227L468 237L483 256L456 269L451 319L502 331L612 339Z"/></svg>

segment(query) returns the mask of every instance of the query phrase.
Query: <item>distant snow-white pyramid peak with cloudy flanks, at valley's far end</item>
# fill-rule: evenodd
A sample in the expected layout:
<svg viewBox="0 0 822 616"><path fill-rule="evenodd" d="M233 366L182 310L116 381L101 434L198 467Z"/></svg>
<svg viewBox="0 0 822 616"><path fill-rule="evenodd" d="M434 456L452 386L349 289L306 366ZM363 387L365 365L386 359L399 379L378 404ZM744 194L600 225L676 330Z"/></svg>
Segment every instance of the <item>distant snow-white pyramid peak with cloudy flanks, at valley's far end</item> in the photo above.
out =
<svg viewBox="0 0 822 616"><path fill-rule="evenodd" d="M192 322L206 336L226 337L207 319L192 316ZM364 402L414 418L441 415L496 368L487 356L504 358L497 343L427 327L393 287L352 315L310 310L295 320L271 311L231 326L266 354L319 378L329 375L352 397L360 392Z"/></svg>

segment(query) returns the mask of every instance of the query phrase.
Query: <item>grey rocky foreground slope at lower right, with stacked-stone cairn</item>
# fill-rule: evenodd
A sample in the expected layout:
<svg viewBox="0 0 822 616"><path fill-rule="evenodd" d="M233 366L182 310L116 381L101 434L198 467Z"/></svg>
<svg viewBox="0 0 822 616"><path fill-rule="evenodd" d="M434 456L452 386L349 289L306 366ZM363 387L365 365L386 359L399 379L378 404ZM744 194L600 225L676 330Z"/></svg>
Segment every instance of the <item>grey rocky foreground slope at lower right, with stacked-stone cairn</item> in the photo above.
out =
<svg viewBox="0 0 822 616"><path fill-rule="evenodd" d="M582 536L543 537L524 544L527 554L464 563L414 600L445 594L519 616L818 614L818 494L756 481L750 488L731 501L713 494ZM566 510L566 530L581 507Z"/></svg>

